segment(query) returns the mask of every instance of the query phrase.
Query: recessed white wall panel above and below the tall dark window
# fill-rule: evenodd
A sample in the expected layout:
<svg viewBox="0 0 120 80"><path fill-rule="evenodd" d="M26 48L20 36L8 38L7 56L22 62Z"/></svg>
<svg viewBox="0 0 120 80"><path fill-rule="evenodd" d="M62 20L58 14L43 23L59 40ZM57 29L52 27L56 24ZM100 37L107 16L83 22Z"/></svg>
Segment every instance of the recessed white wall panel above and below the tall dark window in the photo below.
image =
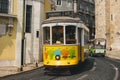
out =
<svg viewBox="0 0 120 80"><path fill-rule="evenodd" d="M32 6L33 12L33 1L25 0L25 29L26 29L26 5ZM32 52L32 21L31 19L31 33L25 32L25 46L24 46L24 64L33 63L33 52Z"/></svg>

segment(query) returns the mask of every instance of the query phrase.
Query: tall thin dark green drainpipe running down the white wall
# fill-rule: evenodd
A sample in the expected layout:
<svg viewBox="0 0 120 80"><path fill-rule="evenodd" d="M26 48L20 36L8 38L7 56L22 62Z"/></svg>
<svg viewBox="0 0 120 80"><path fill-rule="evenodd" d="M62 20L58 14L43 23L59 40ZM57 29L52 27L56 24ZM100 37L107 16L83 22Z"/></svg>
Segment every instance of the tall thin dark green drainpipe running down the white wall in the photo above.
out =
<svg viewBox="0 0 120 80"><path fill-rule="evenodd" d="M23 0L23 20L22 20L22 42L21 42L21 68L20 71L23 71L24 65L24 39L25 39L25 0Z"/></svg>

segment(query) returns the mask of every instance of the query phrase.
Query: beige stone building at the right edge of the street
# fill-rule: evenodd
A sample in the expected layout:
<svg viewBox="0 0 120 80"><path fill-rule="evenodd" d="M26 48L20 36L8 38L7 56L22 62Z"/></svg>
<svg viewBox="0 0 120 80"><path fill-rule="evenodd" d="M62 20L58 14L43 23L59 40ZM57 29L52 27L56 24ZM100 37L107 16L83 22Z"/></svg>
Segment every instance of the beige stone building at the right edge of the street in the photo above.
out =
<svg viewBox="0 0 120 80"><path fill-rule="evenodd" d="M95 3L96 13L98 13L95 26L96 37L106 38L107 56L120 59L120 1L96 0ZM98 31L100 29L102 31Z"/></svg>

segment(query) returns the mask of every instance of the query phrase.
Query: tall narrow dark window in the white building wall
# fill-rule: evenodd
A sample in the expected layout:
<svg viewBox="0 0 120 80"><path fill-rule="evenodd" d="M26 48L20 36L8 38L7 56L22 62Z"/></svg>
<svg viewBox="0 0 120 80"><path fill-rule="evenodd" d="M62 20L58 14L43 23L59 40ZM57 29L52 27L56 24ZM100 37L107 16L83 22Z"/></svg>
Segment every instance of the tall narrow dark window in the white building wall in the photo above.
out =
<svg viewBox="0 0 120 80"><path fill-rule="evenodd" d="M26 32L31 32L32 6L26 6Z"/></svg>

